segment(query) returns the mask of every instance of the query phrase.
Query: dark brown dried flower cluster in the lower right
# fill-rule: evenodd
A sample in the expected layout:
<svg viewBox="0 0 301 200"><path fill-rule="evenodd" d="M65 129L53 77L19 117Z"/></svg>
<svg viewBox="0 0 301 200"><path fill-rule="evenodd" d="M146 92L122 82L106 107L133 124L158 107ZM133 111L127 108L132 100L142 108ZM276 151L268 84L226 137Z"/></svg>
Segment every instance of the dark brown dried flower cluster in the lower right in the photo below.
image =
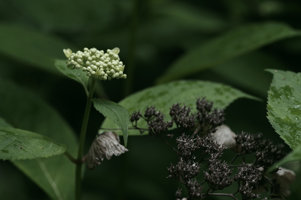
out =
<svg viewBox="0 0 301 200"><path fill-rule="evenodd" d="M228 196L237 200L236 195L239 194L242 200L249 200L259 198L256 192L259 188L267 190L268 185L270 185L272 198L283 198L284 194L281 191L289 194L287 187L277 182L281 178L283 180L283 177L278 175L279 171L274 172L278 179L265 175L265 171L285 155L282 144L275 145L271 140L263 139L262 134L252 135L242 132L235 135L229 127L222 124L225 121L222 109L213 109L213 102L205 98L197 99L196 104L196 113L192 113L189 106L181 107L179 103L173 104L169 112L172 120L168 122L164 121L165 115L160 110L157 111L155 106L147 107L144 115L140 111L133 112L130 119L133 129L138 129L141 133L148 131L150 135L159 137L177 153L179 161L176 164L171 163L167 168L169 173L167 178L180 181L186 187L188 194L182 197L182 189L178 188L175 193L176 200L202 199L209 195ZM148 128L137 127L137 121L141 118L147 122ZM180 133L175 139L177 148L163 138L163 136L172 137L166 132L173 123ZM191 130L194 132L187 134ZM182 133L183 131L186 134ZM227 147L236 152L229 164L221 159ZM252 164L247 164L246 156L251 153L255 153L256 159ZM197 157L199 158L196 159ZM242 163L234 165L239 157ZM208 168L202 173L200 167L204 163L207 163ZM234 168L237 168L237 174L232 175ZM294 177L292 173L282 172L285 173ZM203 174L201 182L196 178L199 174ZM289 178L287 182L291 183L292 180L293 178ZM239 185L237 191L231 194L216 193L217 190L230 186L234 181ZM203 191L204 188L207 188L206 191Z"/></svg>

